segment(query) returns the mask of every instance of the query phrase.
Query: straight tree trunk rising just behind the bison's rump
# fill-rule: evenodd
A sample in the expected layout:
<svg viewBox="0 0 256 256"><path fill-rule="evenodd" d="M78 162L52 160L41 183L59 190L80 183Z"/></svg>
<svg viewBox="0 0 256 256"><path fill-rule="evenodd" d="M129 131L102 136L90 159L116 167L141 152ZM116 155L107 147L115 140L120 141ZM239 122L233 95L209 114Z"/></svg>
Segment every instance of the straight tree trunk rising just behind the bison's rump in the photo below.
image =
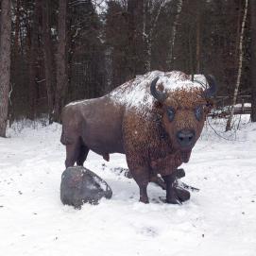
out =
<svg viewBox="0 0 256 256"><path fill-rule="evenodd" d="M64 107L65 96L67 92L67 72L66 72L66 15L67 0L59 1L58 16L58 45L56 55L56 92L54 106L54 121L60 122L61 109Z"/></svg>

